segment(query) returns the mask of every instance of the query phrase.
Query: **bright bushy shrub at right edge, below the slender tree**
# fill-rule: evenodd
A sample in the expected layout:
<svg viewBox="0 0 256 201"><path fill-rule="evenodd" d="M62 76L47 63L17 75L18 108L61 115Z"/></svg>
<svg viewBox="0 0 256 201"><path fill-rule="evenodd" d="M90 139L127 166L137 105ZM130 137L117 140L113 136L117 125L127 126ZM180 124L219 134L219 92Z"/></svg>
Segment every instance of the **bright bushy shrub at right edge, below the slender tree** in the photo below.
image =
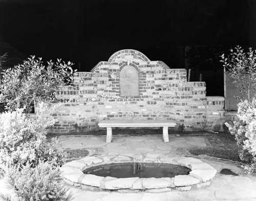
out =
<svg viewBox="0 0 256 201"><path fill-rule="evenodd" d="M256 100L242 101L238 104L238 122L226 123L232 135L236 136L240 148L239 155L247 165L245 170L256 172Z"/></svg>

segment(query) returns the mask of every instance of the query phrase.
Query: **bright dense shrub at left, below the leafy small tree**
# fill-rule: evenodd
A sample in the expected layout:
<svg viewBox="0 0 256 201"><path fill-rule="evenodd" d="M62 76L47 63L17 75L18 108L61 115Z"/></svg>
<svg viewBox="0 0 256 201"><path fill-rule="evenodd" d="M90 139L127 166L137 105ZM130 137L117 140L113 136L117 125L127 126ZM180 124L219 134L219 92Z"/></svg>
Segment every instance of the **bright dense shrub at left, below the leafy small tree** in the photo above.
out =
<svg viewBox="0 0 256 201"><path fill-rule="evenodd" d="M56 121L50 113L59 105L40 103L34 119L23 113L24 108L0 114L0 164L30 163L34 167L39 161L48 161L54 166L62 165L66 153L56 148L56 139L46 139L46 127Z"/></svg>

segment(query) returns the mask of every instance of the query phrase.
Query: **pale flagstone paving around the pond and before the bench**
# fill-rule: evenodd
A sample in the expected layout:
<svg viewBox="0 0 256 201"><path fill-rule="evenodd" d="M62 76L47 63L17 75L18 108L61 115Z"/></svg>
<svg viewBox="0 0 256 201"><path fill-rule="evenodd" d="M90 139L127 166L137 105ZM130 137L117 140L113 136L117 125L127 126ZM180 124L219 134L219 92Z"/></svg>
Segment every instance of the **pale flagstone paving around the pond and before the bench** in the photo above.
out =
<svg viewBox="0 0 256 201"><path fill-rule="evenodd" d="M105 136L60 136L58 146L63 149L87 149L88 157L99 156L110 159L117 155L140 158L161 159L173 157L193 157L217 169L217 174L208 187L192 189L190 191L169 192L109 192L82 190L70 186L74 201L172 201L172 200L249 200L256 201L256 177L244 173L241 163L208 157L194 156L188 152L189 148L219 147L224 144L214 135L169 135L169 143L162 140L162 135L144 136L113 136L112 143L105 143ZM197 168L196 166L194 167ZM238 176L221 174L223 168L230 169ZM0 182L0 189L3 182Z"/></svg>

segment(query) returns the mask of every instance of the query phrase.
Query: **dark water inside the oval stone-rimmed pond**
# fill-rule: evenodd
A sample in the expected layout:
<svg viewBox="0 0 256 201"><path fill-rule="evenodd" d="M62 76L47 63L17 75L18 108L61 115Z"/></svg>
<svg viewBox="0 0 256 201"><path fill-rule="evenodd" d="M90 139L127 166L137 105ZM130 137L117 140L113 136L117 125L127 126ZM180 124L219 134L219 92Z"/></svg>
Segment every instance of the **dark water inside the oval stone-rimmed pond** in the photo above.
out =
<svg viewBox="0 0 256 201"><path fill-rule="evenodd" d="M140 177L160 178L189 174L191 170L184 166L157 163L122 163L108 164L86 169L83 173L98 176L113 176L117 178Z"/></svg>

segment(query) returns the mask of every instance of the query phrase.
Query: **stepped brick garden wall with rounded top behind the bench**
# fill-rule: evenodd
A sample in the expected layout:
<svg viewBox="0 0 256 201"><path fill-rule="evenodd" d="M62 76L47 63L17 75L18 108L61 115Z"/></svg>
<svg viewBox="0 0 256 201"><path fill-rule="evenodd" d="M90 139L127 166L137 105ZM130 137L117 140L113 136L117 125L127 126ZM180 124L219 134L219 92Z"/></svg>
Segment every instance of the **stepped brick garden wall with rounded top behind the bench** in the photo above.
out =
<svg viewBox="0 0 256 201"><path fill-rule="evenodd" d="M139 51L118 51L74 76L72 86L57 92L65 103L53 114L54 132L88 130L103 119L166 119L185 128L210 128L224 118L224 98L207 97L205 82L187 82L185 69L169 69Z"/></svg>

